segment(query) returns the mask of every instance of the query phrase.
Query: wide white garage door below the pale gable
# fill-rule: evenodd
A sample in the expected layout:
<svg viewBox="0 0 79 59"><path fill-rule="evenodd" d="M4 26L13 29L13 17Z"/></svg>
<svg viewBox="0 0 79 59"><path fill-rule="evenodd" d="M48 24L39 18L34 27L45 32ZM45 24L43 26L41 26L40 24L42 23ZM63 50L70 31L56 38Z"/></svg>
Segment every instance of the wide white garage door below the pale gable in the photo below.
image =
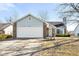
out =
<svg viewBox="0 0 79 59"><path fill-rule="evenodd" d="M42 27L19 27L17 28L17 37L19 38L43 37L43 28Z"/></svg>

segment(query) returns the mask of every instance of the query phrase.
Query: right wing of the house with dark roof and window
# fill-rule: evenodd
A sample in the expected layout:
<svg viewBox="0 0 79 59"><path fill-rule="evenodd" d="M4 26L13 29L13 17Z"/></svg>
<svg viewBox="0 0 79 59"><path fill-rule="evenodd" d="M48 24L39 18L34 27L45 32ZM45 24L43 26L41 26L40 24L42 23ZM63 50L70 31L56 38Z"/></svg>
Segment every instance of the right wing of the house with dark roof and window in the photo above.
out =
<svg viewBox="0 0 79 59"><path fill-rule="evenodd" d="M65 34L65 27L63 22L48 22L56 26L56 34Z"/></svg>

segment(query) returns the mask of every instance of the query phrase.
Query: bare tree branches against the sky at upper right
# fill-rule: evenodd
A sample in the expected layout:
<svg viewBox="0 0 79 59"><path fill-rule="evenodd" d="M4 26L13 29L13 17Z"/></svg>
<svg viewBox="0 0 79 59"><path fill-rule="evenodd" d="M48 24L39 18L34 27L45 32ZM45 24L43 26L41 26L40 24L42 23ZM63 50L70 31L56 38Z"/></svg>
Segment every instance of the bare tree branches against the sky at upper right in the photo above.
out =
<svg viewBox="0 0 79 59"><path fill-rule="evenodd" d="M60 4L60 13L65 17L79 17L79 3Z"/></svg>

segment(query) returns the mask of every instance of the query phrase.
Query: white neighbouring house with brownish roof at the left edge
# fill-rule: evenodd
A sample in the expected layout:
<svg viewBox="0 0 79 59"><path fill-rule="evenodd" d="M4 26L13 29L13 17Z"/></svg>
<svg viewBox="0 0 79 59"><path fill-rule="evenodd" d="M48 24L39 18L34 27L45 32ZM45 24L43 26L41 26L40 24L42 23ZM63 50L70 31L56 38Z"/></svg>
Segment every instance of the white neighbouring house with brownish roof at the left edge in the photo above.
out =
<svg viewBox="0 0 79 59"><path fill-rule="evenodd" d="M0 23L0 34L13 34L13 25L9 23Z"/></svg>

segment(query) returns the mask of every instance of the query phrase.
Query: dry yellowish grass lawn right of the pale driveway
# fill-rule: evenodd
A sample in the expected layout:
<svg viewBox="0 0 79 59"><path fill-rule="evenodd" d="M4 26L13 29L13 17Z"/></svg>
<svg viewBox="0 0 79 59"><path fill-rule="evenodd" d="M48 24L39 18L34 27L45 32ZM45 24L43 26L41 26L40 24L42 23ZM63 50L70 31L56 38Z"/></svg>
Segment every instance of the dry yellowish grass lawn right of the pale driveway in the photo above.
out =
<svg viewBox="0 0 79 59"><path fill-rule="evenodd" d="M79 39L56 38L54 41L44 41L42 48L44 49L35 54L40 56L79 56Z"/></svg>

